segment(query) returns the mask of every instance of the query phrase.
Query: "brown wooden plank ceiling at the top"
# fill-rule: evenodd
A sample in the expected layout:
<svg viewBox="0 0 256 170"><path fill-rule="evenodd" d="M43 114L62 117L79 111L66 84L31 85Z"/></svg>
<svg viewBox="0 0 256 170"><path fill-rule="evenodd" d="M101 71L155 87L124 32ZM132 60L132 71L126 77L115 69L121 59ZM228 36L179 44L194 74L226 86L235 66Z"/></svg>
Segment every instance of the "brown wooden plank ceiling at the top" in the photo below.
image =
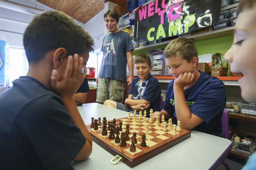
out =
<svg viewBox="0 0 256 170"><path fill-rule="evenodd" d="M108 0L37 0L58 11L62 11L81 23L88 22L104 9ZM118 5L126 5L127 0L109 0Z"/></svg>

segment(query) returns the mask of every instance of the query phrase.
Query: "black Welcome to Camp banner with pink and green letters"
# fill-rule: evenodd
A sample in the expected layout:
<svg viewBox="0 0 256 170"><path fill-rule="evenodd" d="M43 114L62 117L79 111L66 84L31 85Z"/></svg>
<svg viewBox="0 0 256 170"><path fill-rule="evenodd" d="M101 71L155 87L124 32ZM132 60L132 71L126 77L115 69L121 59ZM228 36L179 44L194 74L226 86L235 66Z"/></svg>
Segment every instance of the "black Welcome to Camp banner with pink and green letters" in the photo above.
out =
<svg viewBox="0 0 256 170"><path fill-rule="evenodd" d="M155 0L135 13L134 41L150 42L207 27L219 20L221 0Z"/></svg>

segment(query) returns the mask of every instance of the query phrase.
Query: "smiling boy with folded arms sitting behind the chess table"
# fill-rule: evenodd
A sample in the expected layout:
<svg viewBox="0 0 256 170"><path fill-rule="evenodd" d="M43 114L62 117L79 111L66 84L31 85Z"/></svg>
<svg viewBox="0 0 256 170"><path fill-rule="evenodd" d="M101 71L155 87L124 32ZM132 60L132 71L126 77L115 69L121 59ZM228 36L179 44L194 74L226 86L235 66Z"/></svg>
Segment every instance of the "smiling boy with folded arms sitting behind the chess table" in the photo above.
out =
<svg viewBox="0 0 256 170"><path fill-rule="evenodd" d="M125 104L106 100L104 105L126 112L147 110L147 117L149 117L150 109L160 111L161 87L158 80L149 73L152 68L153 65L148 55L136 56L135 69L138 77L132 81Z"/></svg>

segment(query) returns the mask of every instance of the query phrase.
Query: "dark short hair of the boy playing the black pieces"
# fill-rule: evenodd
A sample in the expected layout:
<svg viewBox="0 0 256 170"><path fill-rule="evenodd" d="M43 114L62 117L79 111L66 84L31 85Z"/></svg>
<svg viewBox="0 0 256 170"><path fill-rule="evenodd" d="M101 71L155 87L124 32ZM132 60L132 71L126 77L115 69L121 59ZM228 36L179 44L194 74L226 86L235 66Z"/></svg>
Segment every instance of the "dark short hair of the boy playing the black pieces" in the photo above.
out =
<svg viewBox="0 0 256 170"><path fill-rule="evenodd" d="M34 17L23 36L29 63L45 57L52 49L63 47L67 56L93 51L93 39L75 21L59 11L46 11Z"/></svg>

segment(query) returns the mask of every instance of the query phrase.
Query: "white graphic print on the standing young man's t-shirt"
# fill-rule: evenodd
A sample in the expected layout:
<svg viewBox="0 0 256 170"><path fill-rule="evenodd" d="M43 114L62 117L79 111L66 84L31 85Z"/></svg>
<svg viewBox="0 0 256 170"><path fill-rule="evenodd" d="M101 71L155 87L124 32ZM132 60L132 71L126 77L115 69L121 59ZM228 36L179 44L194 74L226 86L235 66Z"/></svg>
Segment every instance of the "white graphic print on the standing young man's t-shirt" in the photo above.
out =
<svg viewBox="0 0 256 170"><path fill-rule="evenodd" d="M104 42L104 58L102 65L116 65L117 60L117 49L120 42L120 38L114 39L106 39Z"/></svg>

